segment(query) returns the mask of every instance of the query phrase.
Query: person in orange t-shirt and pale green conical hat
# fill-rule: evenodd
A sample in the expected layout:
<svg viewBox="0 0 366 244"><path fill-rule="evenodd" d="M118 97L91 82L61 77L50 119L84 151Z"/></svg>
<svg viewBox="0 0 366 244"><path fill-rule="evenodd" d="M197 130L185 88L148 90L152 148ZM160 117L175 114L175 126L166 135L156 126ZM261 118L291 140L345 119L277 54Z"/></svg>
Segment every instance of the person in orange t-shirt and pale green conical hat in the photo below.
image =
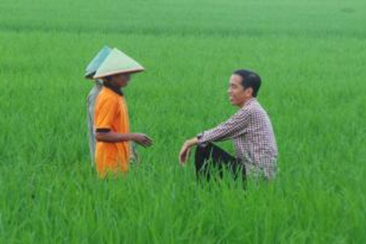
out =
<svg viewBox="0 0 366 244"><path fill-rule="evenodd" d="M94 79L103 79L103 88L98 94L94 128L97 139L96 168L100 177L109 172L127 172L130 160L130 141L144 147L152 145L145 134L130 133L127 105L121 87L126 87L131 74L144 68L118 49L112 49L98 68Z"/></svg>

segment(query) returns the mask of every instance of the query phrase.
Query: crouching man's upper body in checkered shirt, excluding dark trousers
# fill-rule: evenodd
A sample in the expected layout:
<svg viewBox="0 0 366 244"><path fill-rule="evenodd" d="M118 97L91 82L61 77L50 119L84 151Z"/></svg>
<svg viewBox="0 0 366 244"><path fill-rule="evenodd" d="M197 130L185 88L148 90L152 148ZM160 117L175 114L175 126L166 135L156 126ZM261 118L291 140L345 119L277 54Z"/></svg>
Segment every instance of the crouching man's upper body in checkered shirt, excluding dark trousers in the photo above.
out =
<svg viewBox="0 0 366 244"><path fill-rule="evenodd" d="M196 144L232 139L235 156L244 163L247 175L275 177L277 145L268 114L256 98L260 86L261 78L253 71L234 71L228 95L239 111L217 127L187 140L179 154L180 163L184 165L190 148Z"/></svg>

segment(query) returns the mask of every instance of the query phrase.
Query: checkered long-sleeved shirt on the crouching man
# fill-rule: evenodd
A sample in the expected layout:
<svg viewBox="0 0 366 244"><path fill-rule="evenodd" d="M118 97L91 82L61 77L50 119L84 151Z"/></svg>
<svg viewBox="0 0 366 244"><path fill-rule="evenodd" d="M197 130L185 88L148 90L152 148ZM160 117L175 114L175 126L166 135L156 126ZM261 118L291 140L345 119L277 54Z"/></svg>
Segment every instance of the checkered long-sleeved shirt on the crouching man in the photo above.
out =
<svg viewBox="0 0 366 244"><path fill-rule="evenodd" d="M275 177L276 139L269 117L256 98L247 101L224 123L198 136L199 143L228 139L233 140L236 157L244 162L247 174Z"/></svg>

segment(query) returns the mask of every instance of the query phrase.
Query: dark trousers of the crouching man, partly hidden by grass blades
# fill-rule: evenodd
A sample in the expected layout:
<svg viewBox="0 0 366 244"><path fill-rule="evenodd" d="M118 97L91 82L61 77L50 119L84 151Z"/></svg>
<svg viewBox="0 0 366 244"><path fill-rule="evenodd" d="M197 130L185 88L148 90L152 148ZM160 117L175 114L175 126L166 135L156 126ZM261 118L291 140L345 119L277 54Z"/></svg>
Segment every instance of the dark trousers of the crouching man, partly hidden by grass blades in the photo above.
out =
<svg viewBox="0 0 366 244"><path fill-rule="evenodd" d="M198 144L194 161L198 180L203 178L209 181L213 172L223 178L224 169L227 169L234 179L239 176L245 182L244 164L213 143Z"/></svg>

